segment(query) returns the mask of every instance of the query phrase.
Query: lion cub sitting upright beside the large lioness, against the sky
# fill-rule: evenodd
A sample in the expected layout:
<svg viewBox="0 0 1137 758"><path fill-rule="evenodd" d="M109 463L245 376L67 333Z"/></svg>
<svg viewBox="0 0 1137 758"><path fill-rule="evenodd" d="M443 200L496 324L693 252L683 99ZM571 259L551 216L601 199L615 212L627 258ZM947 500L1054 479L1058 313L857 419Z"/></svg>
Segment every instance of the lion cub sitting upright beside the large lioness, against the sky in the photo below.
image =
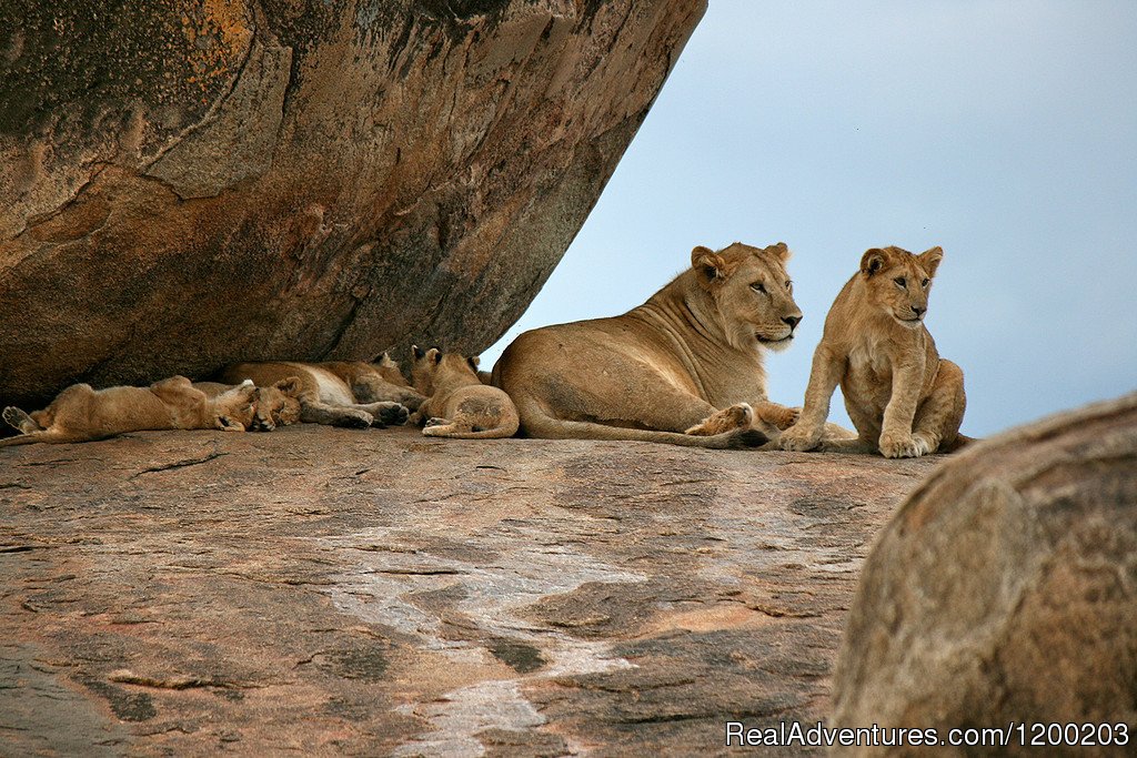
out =
<svg viewBox="0 0 1137 758"><path fill-rule="evenodd" d="M864 253L861 270L825 317L805 408L797 424L782 432L782 450L812 450L821 443L838 383L860 439L852 445L835 443L835 450L914 458L948 452L968 440L960 434L963 372L939 357L923 325L943 258L939 248L919 256L899 248Z"/></svg>

